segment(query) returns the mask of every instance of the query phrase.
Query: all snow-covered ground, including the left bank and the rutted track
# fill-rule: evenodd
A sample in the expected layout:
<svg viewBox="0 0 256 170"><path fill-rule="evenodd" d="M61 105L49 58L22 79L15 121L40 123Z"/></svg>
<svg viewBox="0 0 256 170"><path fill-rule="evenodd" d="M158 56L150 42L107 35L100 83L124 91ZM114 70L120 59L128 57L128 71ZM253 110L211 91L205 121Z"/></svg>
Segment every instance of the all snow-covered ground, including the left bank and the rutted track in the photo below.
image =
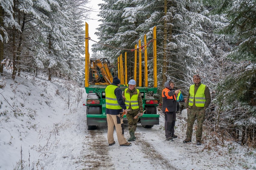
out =
<svg viewBox="0 0 256 170"><path fill-rule="evenodd" d="M160 125L138 125L130 147L108 146L107 127L87 130L86 92L71 82L26 75L0 77L0 170L44 169L256 169L255 150L235 142L211 147L184 144L186 122L178 115L175 141ZM125 127L125 137L129 137ZM23 166L23 168L21 168Z"/></svg>

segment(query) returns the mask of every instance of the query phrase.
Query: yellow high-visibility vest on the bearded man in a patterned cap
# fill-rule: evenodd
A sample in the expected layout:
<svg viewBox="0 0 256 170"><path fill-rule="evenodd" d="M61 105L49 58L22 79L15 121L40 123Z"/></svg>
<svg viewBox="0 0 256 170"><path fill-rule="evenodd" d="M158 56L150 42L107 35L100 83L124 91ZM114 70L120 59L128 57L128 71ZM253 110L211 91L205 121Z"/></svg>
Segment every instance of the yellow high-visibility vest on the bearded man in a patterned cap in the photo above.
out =
<svg viewBox="0 0 256 170"><path fill-rule="evenodd" d="M205 95L204 95L204 90L205 90L206 85L204 84L200 84L200 86L197 89L196 94L194 94L195 92L195 85L191 85L189 88L189 101L188 101L188 105L189 106L193 106L193 102L194 102L194 98L195 98L195 104L197 107L204 107L205 104Z"/></svg>

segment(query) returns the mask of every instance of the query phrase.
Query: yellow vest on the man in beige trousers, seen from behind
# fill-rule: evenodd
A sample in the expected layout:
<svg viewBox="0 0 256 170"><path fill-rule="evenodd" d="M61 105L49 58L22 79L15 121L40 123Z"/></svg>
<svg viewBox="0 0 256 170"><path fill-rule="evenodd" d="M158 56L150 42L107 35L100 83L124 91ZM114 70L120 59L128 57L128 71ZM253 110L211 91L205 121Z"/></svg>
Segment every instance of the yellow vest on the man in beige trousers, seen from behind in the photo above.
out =
<svg viewBox="0 0 256 170"><path fill-rule="evenodd" d="M114 91L116 88L119 88L115 85L108 85L105 89L106 92L106 108L108 109L122 109L117 102L117 96L115 95Z"/></svg>

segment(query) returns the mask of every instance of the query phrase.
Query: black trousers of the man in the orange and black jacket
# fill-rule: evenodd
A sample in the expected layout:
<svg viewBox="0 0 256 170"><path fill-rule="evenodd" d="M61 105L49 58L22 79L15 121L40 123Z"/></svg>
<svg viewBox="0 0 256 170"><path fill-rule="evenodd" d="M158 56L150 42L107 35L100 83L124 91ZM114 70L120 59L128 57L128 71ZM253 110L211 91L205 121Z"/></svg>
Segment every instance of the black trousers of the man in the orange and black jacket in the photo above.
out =
<svg viewBox="0 0 256 170"><path fill-rule="evenodd" d="M165 129L165 137L173 137L174 135L174 126L176 122L176 112L165 112L164 113L164 129Z"/></svg>

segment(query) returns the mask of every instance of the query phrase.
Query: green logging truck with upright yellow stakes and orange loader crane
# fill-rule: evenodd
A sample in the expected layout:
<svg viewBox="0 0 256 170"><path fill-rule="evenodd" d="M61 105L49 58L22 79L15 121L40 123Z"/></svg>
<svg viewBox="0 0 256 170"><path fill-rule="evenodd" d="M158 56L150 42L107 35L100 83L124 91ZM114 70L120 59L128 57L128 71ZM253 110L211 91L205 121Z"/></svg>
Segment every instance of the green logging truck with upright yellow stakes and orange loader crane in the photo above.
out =
<svg viewBox="0 0 256 170"><path fill-rule="evenodd" d="M97 126L107 125L105 88L113 81L114 65L111 64L107 58L90 58L89 57L89 34L88 24L85 23L85 90L87 92L86 99L86 117L87 129L93 130ZM94 40L92 40L94 41ZM96 42L96 41L94 41ZM148 73L147 63L147 45L153 42L153 87L148 87L148 75L144 75L144 86L142 86L142 55L141 50L144 50L144 68L145 73ZM98 42L97 42L98 43ZM105 45L105 44L102 44ZM134 49L122 49L125 51L134 51L134 66L137 65L137 51L139 51L139 83L136 89L139 89L142 95L143 110L145 113L140 117L139 122L144 128L152 128L154 125L159 125L159 115L157 114L158 99L146 94L157 93L157 49L156 49L156 27L153 28L153 39L146 42L146 35L144 35L144 45L141 45L139 40L139 48L137 44ZM109 46L109 45L107 45ZM117 58L118 78L121 81L120 89L124 91L127 87L127 66L126 66L126 52L124 53L124 68L123 56ZM125 69L125 70L124 70ZM137 68L134 67L134 79L137 79ZM126 118L126 116L124 116Z"/></svg>

